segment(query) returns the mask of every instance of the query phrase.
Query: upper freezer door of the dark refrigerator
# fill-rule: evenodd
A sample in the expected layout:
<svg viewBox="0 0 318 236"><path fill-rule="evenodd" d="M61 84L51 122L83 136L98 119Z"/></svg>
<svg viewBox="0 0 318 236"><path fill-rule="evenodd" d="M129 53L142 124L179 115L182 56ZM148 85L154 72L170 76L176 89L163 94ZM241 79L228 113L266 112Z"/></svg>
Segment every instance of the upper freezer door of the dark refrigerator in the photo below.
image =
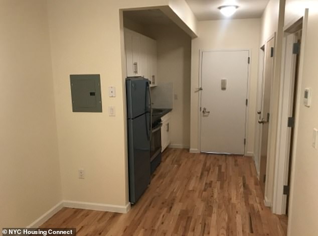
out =
<svg viewBox="0 0 318 236"><path fill-rule="evenodd" d="M133 119L148 111L149 81L144 78L126 79L127 118Z"/></svg>

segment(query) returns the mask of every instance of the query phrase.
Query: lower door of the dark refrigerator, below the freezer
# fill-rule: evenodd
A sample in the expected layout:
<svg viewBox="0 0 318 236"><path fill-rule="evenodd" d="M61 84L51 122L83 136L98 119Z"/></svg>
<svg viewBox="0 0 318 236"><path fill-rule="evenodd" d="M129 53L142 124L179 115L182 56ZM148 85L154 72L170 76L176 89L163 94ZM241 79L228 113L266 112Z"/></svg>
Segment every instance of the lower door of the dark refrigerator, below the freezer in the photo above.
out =
<svg viewBox="0 0 318 236"><path fill-rule="evenodd" d="M149 113L128 119L129 201L135 203L150 183Z"/></svg>

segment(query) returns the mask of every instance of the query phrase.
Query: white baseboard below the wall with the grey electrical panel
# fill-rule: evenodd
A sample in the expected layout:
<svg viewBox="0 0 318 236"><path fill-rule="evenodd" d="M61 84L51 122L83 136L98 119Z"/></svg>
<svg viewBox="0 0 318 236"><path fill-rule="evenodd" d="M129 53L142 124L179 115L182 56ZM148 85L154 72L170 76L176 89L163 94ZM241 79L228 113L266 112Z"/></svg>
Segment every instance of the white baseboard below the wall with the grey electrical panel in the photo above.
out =
<svg viewBox="0 0 318 236"><path fill-rule="evenodd" d="M130 210L130 203L125 206L122 205L111 205L111 204L100 204L92 202L81 202L81 201L63 201L64 207L72 207L86 210L101 210L101 211L110 211L117 213L127 213Z"/></svg>

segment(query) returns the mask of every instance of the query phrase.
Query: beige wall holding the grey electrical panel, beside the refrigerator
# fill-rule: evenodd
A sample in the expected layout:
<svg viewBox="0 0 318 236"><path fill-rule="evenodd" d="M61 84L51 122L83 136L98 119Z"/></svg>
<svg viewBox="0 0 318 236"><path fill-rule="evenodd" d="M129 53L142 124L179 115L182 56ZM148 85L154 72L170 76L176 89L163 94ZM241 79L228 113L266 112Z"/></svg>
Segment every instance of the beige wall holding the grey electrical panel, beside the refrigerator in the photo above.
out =
<svg viewBox="0 0 318 236"><path fill-rule="evenodd" d="M164 0L48 1L63 199L127 204L125 69L119 9L168 5ZM101 76L103 112L73 113L69 75L90 73ZM116 97L108 97L108 86L116 87ZM116 116L108 116L108 106L115 106ZM78 179L80 168L85 169L84 180Z"/></svg>

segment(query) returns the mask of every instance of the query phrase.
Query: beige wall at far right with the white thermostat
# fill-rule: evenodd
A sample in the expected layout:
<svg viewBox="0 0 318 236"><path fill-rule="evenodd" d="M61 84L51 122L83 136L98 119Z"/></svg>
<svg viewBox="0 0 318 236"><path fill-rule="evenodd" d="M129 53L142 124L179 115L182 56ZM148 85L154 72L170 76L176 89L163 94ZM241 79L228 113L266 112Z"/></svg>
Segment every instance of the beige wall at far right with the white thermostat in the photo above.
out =
<svg viewBox="0 0 318 236"><path fill-rule="evenodd" d="M303 68L299 75L300 97L296 114L296 146L292 162L292 183L288 235L314 236L318 232L318 151L311 146L312 131L318 128L318 3L316 1L286 1L285 24L304 15L309 8L308 25L304 31ZM302 105L304 88L312 89L311 106Z"/></svg>

